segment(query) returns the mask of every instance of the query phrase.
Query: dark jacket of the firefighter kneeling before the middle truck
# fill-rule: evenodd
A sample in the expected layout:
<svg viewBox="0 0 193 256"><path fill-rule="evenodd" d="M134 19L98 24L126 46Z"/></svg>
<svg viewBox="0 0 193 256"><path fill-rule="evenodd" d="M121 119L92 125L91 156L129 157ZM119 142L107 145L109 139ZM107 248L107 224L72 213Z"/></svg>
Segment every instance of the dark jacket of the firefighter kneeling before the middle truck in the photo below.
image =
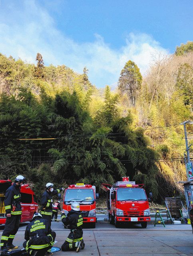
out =
<svg viewBox="0 0 193 256"><path fill-rule="evenodd" d="M66 239L67 242L73 243L82 240L82 225L83 218L80 211L71 210L67 217L64 213L61 215L62 222L64 226L68 226L70 228L70 234Z"/></svg>

